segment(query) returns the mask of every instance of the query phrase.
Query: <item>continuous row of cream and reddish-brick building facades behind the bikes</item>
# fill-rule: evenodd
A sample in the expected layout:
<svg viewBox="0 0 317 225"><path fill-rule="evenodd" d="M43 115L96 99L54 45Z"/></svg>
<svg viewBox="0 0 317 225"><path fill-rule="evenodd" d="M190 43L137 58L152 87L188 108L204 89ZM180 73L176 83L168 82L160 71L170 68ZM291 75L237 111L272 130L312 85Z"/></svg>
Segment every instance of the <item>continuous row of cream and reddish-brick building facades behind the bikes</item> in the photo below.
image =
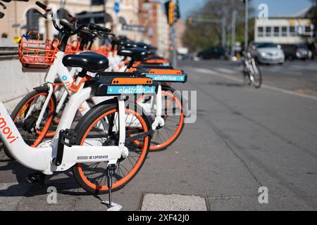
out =
<svg viewBox="0 0 317 225"><path fill-rule="evenodd" d="M8 6L5 11L6 16L0 23L0 38L13 39L30 30L38 32L42 39L56 37L58 32L54 26L33 12L33 9L42 11L36 6L36 1L11 1L6 4ZM79 23L105 24L117 35L147 42L156 46L162 56L168 55L169 26L165 10L157 1L106 0L106 6L91 6L91 0L42 0L42 2L56 12L58 20L63 18L64 13L70 13L75 15ZM120 4L119 13L114 10L115 2ZM104 7L106 18L104 18ZM135 27L141 27L142 30L135 30Z"/></svg>

